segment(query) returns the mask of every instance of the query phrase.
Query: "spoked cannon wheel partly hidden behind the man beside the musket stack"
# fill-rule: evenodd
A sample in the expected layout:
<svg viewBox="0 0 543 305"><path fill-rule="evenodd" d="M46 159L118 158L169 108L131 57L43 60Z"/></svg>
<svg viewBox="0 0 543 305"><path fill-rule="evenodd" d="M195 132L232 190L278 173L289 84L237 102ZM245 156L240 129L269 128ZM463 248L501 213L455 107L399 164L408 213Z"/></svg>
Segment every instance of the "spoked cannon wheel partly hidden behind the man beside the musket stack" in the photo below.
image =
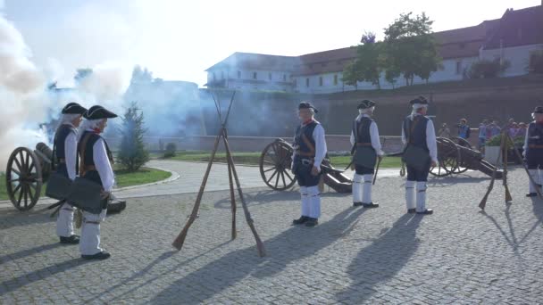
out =
<svg viewBox="0 0 543 305"><path fill-rule="evenodd" d="M286 190L296 183L296 177L288 173L294 150L283 140L268 144L260 156L260 176L266 185L276 191Z"/></svg>

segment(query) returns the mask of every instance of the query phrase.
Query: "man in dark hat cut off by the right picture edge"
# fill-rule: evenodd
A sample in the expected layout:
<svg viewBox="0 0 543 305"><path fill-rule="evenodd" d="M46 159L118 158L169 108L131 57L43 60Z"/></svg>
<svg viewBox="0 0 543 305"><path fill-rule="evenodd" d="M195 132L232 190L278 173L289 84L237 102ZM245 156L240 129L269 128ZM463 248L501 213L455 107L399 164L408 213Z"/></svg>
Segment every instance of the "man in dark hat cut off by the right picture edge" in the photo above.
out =
<svg viewBox="0 0 543 305"><path fill-rule="evenodd" d="M531 117L534 119L526 129L526 137L524 138L524 158L528 166L528 171L534 185L530 182L530 193L526 197L535 197L538 195L536 187L541 187L541 167L543 167L543 106L537 106Z"/></svg>

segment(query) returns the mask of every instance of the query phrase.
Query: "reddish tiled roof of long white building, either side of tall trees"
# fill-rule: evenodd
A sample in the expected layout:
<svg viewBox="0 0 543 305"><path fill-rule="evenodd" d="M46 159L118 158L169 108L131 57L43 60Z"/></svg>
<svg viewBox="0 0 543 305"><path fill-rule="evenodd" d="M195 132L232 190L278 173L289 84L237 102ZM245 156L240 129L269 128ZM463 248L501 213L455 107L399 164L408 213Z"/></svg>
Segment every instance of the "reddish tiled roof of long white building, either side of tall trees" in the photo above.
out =
<svg viewBox="0 0 543 305"><path fill-rule="evenodd" d="M503 39L504 46L543 44L543 6L508 10L501 19L432 35L443 59L478 56L481 46L499 47L500 39ZM343 71L355 57L355 46L301 56L234 53L206 71L231 67L290 71L295 76L304 76Z"/></svg>

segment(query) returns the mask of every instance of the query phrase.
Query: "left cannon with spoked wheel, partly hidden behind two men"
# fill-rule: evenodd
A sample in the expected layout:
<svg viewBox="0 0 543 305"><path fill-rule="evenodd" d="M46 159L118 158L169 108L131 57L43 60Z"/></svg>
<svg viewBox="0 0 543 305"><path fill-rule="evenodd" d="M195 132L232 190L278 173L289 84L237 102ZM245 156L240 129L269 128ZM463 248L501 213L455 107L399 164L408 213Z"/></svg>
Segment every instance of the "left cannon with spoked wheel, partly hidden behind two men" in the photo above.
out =
<svg viewBox="0 0 543 305"><path fill-rule="evenodd" d="M8 197L17 210L30 210L36 205L42 186L51 175L52 158L53 151L41 142L36 144L33 151L27 147L18 147L12 152L5 169L5 185ZM59 206L58 203L49 208ZM108 212L125 208L126 202L119 201L112 195Z"/></svg>

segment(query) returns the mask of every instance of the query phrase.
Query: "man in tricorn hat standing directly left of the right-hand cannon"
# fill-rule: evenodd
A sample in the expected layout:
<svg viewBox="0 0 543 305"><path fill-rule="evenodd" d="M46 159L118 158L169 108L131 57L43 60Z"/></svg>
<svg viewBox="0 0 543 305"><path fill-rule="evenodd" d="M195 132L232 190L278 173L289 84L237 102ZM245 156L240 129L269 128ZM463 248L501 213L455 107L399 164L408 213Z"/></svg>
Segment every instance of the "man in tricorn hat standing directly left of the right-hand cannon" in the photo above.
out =
<svg viewBox="0 0 543 305"><path fill-rule="evenodd" d="M406 145L402 159L407 167L405 202L408 213L431 214L433 211L426 209L426 182L430 167L438 164L436 133L433 122L426 117L426 98L419 96L410 103L412 112L405 118L402 126L402 141Z"/></svg>

